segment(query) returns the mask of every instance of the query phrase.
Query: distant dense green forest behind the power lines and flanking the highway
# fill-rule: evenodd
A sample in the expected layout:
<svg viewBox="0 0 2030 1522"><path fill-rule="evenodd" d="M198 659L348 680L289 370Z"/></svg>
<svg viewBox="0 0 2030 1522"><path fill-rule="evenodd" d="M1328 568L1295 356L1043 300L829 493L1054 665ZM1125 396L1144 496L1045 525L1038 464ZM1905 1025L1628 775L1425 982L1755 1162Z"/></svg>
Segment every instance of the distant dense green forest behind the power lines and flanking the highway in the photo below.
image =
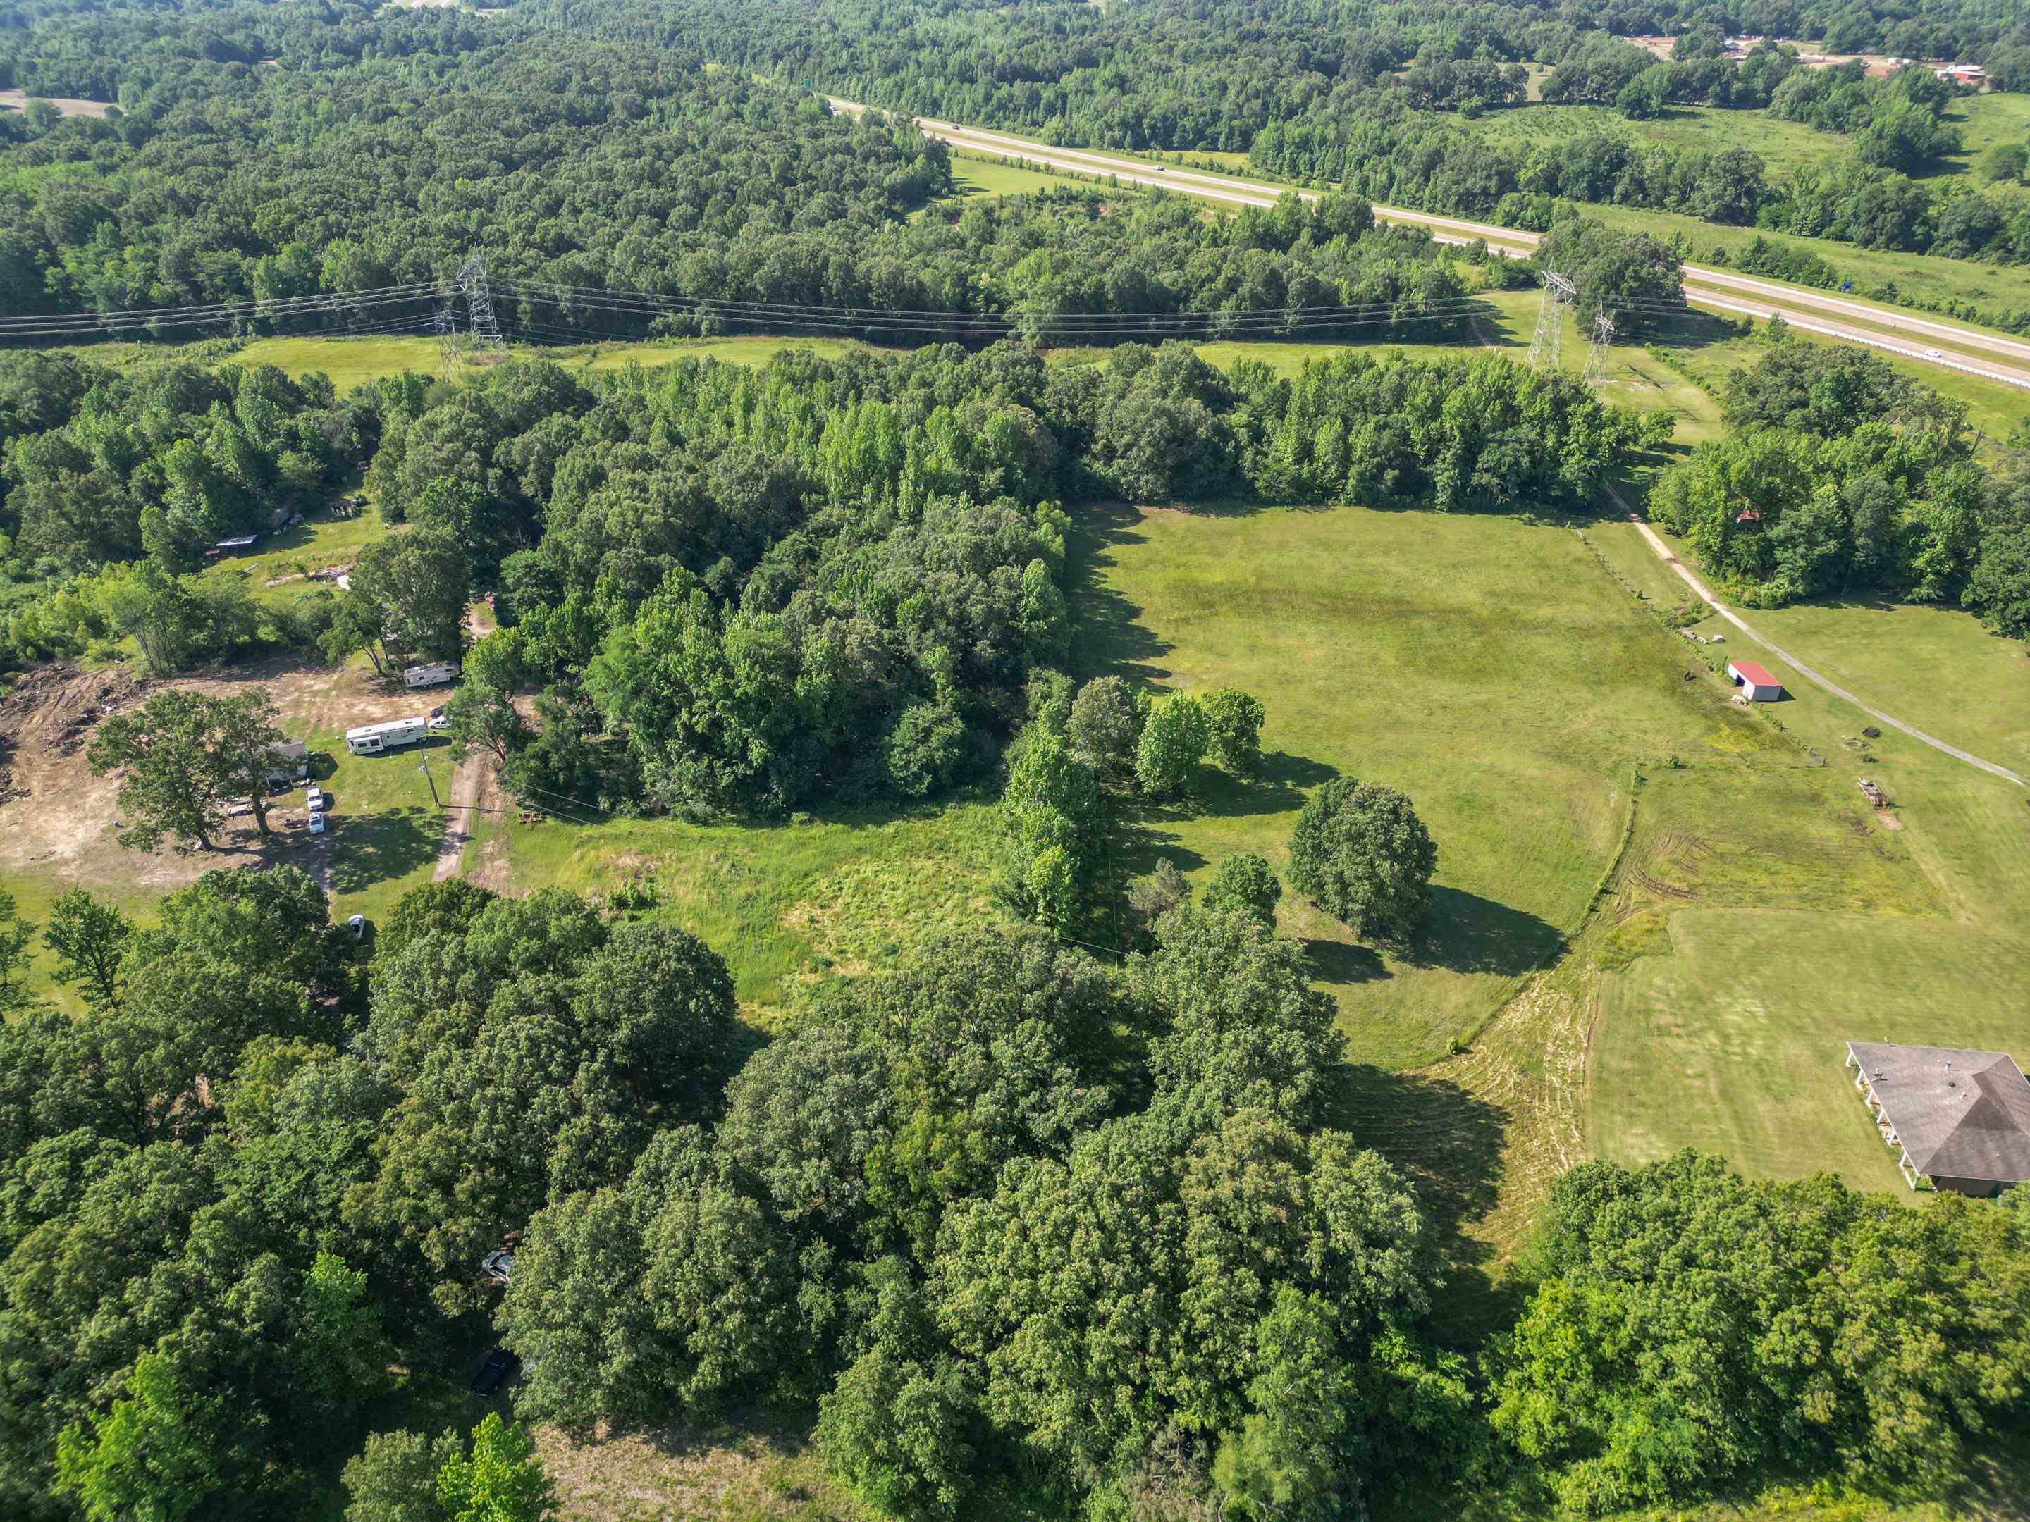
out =
<svg viewBox="0 0 2030 1522"><path fill-rule="evenodd" d="M1951 87L1924 69L1803 69L1774 45L1717 57L1719 28L1703 14L1673 61L1547 8L1338 14L1344 30L1322 30L1301 6L1236 16L1181 4L834 2L794 18L759 0L532 0L487 16L26 10L26 24L0 28L0 85L118 110L0 118L0 310L361 292L445 280L479 244L495 272L568 288L983 302L976 266L999 250L960 233L970 268L952 268L948 235L903 221L950 189L940 146L879 120L832 120L749 73L1050 140L1246 152L1291 181L1533 229L1587 201L1864 248L2030 258L2020 162L1991 185L1910 179L1957 146L1943 122ZM1971 4L1896 45L1987 57L2008 87L2030 30L2004 20ZM1784 14L1776 30L1807 22ZM1638 118L1693 101L1766 108L1845 134L1851 150L1776 175L1744 148L1638 148L1600 132L1514 146L1433 116L1520 101L1520 59L1555 65L1545 99ZM924 264L934 268L920 274ZM351 313L374 317L390 313Z"/></svg>

